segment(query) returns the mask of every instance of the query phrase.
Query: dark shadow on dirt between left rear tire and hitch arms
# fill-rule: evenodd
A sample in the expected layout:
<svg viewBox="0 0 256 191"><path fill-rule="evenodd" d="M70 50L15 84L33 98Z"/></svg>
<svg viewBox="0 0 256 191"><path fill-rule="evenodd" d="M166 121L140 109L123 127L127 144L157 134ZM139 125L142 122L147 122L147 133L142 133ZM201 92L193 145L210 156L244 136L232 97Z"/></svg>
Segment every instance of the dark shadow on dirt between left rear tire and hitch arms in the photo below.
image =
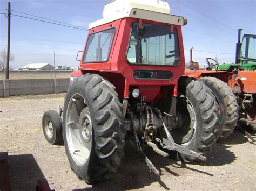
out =
<svg viewBox="0 0 256 191"><path fill-rule="evenodd" d="M170 165L176 163L172 159L166 159L159 154L152 151L151 148L145 148L144 152L152 163L159 170L164 165ZM169 169L166 167L166 169ZM179 174L169 171L174 176ZM163 175L160 173L160 176ZM162 189L170 189L166 184L161 181L156 175L149 171L145 158L142 155L138 155L138 152L131 148L130 144L125 146L125 158L122 160L122 165L118 168L109 180L102 183L92 185L93 187L75 190L127 190L138 189L150 186L153 182L159 182L159 186Z"/></svg>

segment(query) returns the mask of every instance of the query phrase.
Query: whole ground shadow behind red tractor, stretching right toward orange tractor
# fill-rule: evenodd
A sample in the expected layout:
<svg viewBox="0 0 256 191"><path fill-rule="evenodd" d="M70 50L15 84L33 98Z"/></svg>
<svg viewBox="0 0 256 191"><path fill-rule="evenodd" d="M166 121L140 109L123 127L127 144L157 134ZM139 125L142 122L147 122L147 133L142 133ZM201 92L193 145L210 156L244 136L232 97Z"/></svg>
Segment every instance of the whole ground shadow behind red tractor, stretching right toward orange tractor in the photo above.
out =
<svg viewBox="0 0 256 191"><path fill-rule="evenodd" d="M122 165L118 168L117 173L114 173L109 180L103 183L92 185L91 188L77 190L127 190L138 189L150 186L154 182L158 182L161 189L172 189L170 182L164 182L161 178L163 174L170 174L173 177L183 176L185 171L193 171L207 176L214 176L205 171L200 170L200 166L223 166L231 164L236 157L233 152L228 150L233 144L242 144L247 142L247 139L240 132L235 131L225 140L218 142L213 151L206 155L205 163L185 164L177 162L173 158L164 158L155 153L152 148L145 147L145 154L152 161L153 165L160 171L160 178L149 171L145 163L145 158L138 155L137 151L131 148L130 144L125 146L125 158L122 160ZM128 142L126 142L128 143Z"/></svg>

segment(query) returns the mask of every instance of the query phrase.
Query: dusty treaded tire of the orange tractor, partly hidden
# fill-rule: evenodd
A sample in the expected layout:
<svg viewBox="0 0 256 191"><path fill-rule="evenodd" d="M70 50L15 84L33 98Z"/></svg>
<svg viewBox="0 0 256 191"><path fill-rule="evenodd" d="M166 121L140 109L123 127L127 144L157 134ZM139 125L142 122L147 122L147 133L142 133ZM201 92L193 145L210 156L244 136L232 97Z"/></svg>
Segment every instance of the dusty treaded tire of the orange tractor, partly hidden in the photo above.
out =
<svg viewBox="0 0 256 191"><path fill-rule="evenodd" d="M225 82L215 77L203 77L200 80L212 90L212 93L217 98L220 106L219 136L220 139L225 139L230 136L235 126L237 126L239 117L237 98Z"/></svg>

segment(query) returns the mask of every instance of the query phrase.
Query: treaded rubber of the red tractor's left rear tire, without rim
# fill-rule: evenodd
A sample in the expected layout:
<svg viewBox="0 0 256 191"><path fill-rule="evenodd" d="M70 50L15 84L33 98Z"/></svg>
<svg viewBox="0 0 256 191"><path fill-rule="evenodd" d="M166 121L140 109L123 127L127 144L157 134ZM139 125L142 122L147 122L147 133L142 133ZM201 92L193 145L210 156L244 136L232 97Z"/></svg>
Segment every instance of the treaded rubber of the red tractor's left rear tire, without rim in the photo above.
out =
<svg viewBox="0 0 256 191"><path fill-rule="evenodd" d="M84 165L77 165L72 158L66 135L66 112L75 94L84 97L92 121L91 151ZM73 172L87 183L96 183L109 178L110 174L120 166L121 159L124 157L126 133L122 104L115 87L97 74L77 77L65 96L63 124L66 154Z"/></svg>

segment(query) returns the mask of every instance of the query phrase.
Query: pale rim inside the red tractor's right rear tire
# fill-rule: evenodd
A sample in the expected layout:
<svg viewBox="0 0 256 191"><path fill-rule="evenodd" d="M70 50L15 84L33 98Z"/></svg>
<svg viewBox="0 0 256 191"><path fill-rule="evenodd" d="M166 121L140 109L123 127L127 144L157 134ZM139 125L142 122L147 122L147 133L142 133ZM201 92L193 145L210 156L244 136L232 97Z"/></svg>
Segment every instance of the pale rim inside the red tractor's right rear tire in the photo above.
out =
<svg viewBox="0 0 256 191"><path fill-rule="evenodd" d="M180 102L180 104L179 104ZM182 116L183 124L180 128L172 130L172 137L176 143L187 146L190 144L197 127L196 112L191 101L181 95L178 98L179 115Z"/></svg>

